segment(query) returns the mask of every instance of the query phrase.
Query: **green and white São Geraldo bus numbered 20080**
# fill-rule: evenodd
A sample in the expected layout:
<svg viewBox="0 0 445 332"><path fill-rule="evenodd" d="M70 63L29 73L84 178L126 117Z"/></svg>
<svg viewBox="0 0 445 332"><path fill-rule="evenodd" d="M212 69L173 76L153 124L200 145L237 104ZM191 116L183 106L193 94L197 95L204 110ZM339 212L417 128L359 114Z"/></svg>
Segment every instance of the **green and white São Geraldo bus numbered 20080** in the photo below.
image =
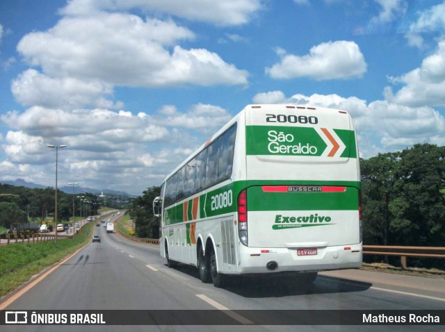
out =
<svg viewBox="0 0 445 332"><path fill-rule="evenodd" d="M343 110L249 105L184 160L153 202L168 266L230 275L362 265L357 138ZM287 279L289 280L289 279Z"/></svg>

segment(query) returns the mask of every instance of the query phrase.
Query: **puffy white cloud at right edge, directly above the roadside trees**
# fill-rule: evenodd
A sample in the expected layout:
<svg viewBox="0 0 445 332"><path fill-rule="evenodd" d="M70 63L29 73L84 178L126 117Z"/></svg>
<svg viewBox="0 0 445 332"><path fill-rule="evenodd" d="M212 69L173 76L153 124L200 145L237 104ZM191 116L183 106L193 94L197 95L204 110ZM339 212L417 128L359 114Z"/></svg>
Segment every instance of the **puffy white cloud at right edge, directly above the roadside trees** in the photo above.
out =
<svg viewBox="0 0 445 332"><path fill-rule="evenodd" d="M400 77L391 77L392 83L405 86L393 93L385 88L385 98L391 103L407 106L445 105L445 40L441 40L437 50L423 59L419 68Z"/></svg>

